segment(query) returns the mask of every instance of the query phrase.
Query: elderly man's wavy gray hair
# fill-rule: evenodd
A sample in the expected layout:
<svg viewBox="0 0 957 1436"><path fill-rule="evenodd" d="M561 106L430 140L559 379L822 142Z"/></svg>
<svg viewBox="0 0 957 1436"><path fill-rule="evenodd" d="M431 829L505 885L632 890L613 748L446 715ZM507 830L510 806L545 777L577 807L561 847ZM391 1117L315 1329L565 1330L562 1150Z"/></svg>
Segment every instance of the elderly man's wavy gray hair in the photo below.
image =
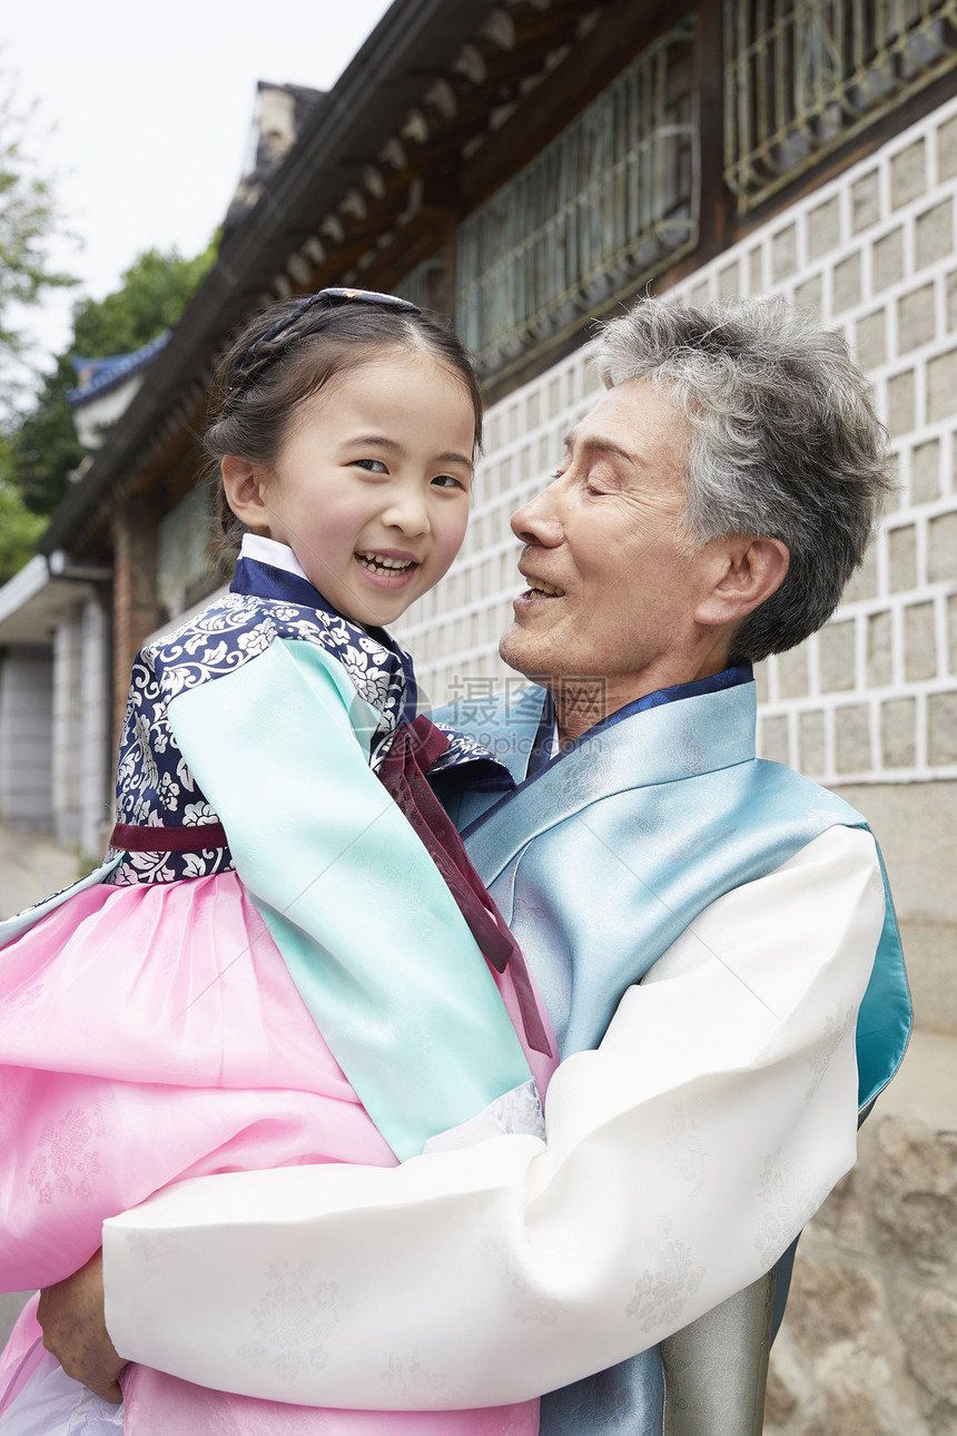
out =
<svg viewBox="0 0 957 1436"><path fill-rule="evenodd" d="M894 488L887 434L844 339L781 299L646 299L588 349L607 386L650 379L687 418L692 541L755 534L788 547L788 576L739 625L730 661L816 632Z"/></svg>

